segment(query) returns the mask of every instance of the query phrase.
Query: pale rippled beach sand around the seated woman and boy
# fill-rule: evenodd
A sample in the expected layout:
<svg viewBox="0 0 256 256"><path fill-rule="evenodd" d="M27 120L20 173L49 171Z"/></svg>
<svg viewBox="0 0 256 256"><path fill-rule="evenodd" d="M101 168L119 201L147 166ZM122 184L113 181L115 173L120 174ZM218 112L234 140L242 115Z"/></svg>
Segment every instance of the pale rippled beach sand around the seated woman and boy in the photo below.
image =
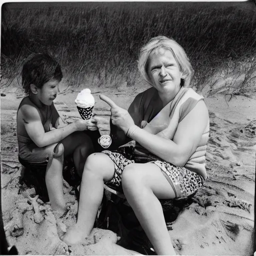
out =
<svg viewBox="0 0 256 256"><path fill-rule="evenodd" d="M94 112L109 118L109 107L99 99L102 91L116 104L127 108L144 88L91 88L96 99ZM79 88L77 88L77 91ZM77 91L62 93L55 106L66 122L79 118L73 103ZM16 109L21 98L11 90L1 96L1 193L4 229L10 245L19 254L128 255L134 251L116 244L117 235L95 228L83 245L67 246L58 237L75 222L77 200L64 182L70 210L56 219L48 203L35 196L33 188L22 189L21 166L15 131ZM176 220L168 223L178 255L252 255L254 221L254 177L256 149L256 97L236 95L230 101L222 94L205 98L210 115L210 138L206 154L208 178ZM253 111L254 109L254 111ZM62 230L61 230L62 229Z"/></svg>

